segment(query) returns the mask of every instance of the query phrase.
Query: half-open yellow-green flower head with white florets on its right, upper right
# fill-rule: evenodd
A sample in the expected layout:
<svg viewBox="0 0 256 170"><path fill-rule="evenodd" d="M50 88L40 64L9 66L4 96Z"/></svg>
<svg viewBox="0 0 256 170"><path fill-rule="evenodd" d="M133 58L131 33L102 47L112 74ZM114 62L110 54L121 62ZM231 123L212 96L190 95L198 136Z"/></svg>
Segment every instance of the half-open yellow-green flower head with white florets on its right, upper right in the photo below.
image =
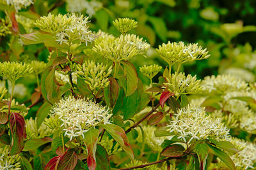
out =
<svg viewBox="0 0 256 170"><path fill-rule="evenodd" d="M202 46L198 44L185 45L183 42L170 43L170 41L163 45L159 45L159 49L156 49L160 57L162 57L171 66L175 63L184 63L192 60L207 59L210 55Z"/></svg>

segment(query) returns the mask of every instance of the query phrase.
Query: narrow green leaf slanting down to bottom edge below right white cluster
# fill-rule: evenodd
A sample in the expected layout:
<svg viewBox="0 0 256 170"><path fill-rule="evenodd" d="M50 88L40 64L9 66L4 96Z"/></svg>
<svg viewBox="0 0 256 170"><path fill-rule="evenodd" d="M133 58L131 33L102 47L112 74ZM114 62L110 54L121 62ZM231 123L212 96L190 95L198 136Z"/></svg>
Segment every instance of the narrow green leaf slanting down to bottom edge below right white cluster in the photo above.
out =
<svg viewBox="0 0 256 170"><path fill-rule="evenodd" d="M219 150L215 146L212 146L212 145L209 145L209 144L207 144L207 145L212 150L214 155L216 155L218 158L220 158L220 160L222 160L231 170L236 170L236 166L235 166L233 160L230 159L230 157L225 152L222 152L221 150Z"/></svg>

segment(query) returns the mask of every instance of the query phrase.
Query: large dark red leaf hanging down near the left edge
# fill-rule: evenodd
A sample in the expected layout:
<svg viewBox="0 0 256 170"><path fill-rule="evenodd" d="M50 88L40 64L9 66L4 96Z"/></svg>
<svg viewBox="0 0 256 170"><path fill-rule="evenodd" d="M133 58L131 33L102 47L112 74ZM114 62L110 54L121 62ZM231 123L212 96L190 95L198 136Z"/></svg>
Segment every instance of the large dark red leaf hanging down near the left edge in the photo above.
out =
<svg viewBox="0 0 256 170"><path fill-rule="evenodd" d="M26 134L26 123L19 113L10 114L11 150L10 155L20 153L24 148Z"/></svg>

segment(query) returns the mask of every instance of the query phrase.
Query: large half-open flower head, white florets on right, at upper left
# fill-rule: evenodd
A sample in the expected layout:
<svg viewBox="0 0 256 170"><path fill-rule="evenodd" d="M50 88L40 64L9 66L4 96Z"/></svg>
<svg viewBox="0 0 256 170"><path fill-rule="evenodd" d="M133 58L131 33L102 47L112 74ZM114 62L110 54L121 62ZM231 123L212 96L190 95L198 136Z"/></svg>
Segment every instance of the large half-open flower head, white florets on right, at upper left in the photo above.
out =
<svg viewBox="0 0 256 170"><path fill-rule="evenodd" d="M58 43L72 43L79 39L83 43L92 42L94 35L87 25L88 17L83 15L52 15L40 17L36 20L35 25L45 32L51 33Z"/></svg>

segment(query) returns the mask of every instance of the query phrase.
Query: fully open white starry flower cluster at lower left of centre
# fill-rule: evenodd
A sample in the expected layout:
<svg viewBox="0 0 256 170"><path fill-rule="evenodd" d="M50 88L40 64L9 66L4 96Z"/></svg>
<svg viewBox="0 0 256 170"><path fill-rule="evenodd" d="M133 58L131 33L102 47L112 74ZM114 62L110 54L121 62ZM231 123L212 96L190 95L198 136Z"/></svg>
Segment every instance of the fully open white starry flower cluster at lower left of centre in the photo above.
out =
<svg viewBox="0 0 256 170"><path fill-rule="evenodd" d="M51 117L61 121L61 128L70 140L99 125L109 124L108 108L86 99L65 97L51 110Z"/></svg>

